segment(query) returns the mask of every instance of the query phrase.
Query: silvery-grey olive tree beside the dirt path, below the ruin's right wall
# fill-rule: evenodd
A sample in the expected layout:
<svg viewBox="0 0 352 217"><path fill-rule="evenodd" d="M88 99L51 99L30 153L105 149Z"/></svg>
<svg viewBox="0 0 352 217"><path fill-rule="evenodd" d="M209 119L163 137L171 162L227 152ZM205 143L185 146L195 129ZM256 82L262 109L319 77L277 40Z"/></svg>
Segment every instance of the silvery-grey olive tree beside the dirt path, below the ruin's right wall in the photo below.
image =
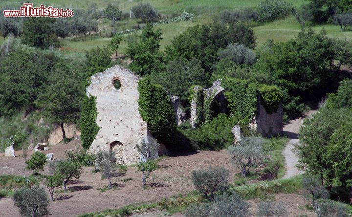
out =
<svg viewBox="0 0 352 217"><path fill-rule="evenodd" d="M244 137L240 140L240 144L227 148L232 165L241 168L243 177L249 174L251 167L257 167L262 162L263 143L262 137L251 136Z"/></svg>

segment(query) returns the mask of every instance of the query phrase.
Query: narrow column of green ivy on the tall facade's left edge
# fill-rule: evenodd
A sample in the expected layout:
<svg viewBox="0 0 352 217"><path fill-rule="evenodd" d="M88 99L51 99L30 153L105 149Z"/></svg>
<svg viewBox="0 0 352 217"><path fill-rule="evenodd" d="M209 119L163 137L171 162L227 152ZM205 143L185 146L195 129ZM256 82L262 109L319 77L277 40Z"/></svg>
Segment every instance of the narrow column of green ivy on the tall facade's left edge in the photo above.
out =
<svg viewBox="0 0 352 217"><path fill-rule="evenodd" d="M96 109L96 97L87 95L83 101L83 108L81 113L81 140L82 146L86 150L91 146L95 136L99 131L99 126L96 124L98 116Z"/></svg>

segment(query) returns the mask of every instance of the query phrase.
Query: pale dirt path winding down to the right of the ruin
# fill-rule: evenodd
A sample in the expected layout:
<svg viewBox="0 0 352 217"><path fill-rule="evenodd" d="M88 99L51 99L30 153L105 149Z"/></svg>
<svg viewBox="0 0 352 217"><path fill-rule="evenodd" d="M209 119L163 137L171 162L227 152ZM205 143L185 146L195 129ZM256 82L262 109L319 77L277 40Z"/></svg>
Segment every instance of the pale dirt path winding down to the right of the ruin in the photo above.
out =
<svg viewBox="0 0 352 217"><path fill-rule="evenodd" d="M296 168L296 165L298 163L298 157L294 152L292 152L292 149L295 147L296 144L299 143L299 128L303 124L305 117L311 116L316 112L316 110L310 110L305 113L303 117L291 120L288 124L284 126L284 133L288 136L288 138L290 138L290 141L288 142L285 150L283 151L286 165L286 174L283 178L289 178L302 173Z"/></svg>

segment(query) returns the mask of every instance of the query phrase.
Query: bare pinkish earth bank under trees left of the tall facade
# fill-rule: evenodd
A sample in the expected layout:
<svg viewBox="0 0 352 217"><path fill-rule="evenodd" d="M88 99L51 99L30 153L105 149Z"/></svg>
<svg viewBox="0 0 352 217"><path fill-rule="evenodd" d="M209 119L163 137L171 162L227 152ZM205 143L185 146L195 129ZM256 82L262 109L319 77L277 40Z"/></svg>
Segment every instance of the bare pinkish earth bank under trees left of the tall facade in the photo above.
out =
<svg viewBox="0 0 352 217"><path fill-rule="evenodd" d="M64 124L64 129L66 133L67 138L72 138L75 136L81 136L81 132L77 130L75 124ZM59 144L63 137L62 137L62 130L59 124L54 125L54 130L50 133L49 138L48 138L48 144L50 145L56 145Z"/></svg>

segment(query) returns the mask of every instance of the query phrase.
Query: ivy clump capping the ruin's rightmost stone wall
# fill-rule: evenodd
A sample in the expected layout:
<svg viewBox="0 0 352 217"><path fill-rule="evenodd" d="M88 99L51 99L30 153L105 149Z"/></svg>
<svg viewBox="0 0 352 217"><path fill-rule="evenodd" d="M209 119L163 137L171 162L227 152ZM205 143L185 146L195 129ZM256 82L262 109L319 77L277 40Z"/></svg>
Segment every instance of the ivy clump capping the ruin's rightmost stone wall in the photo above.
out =
<svg viewBox="0 0 352 217"><path fill-rule="evenodd" d="M261 103L264 106L266 112L269 114L277 111L284 97L283 92L279 87L276 86L262 86L259 88L261 94Z"/></svg>

